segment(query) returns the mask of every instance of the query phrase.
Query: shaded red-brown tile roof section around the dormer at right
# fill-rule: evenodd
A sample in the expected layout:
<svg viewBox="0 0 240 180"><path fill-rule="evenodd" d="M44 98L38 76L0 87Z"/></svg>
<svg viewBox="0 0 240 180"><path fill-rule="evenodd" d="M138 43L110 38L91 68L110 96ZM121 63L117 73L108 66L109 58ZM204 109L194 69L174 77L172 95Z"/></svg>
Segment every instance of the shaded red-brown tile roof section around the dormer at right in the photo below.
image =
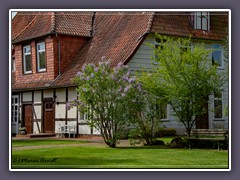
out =
<svg viewBox="0 0 240 180"><path fill-rule="evenodd" d="M228 14L226 12L210 12L210 31L195 30L191 20L191 12L158 12L155 13L151 32L164 35L182 36L208 40L226 38Z"/></svg>

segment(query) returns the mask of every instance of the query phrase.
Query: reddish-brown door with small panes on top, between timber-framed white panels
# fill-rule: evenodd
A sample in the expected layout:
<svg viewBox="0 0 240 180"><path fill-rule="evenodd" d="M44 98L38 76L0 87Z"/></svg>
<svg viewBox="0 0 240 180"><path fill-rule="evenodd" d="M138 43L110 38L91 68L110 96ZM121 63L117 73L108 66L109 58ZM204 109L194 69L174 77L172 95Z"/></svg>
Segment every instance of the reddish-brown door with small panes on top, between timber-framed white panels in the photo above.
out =
<svg viewBox="0 0 240 180"><path fill-rule="evenodd" d="M43 132L54 133L55 121L54 121L54 103L52 100L44 101L44 122Z"/></svg>

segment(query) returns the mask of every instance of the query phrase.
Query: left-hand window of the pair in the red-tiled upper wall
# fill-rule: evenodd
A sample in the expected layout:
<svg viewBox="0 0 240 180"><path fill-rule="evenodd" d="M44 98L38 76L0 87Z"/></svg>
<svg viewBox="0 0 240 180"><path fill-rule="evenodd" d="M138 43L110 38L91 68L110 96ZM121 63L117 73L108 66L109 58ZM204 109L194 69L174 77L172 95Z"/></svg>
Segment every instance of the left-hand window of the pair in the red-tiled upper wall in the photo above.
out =
<svg viewBox="0 0 240 180"><path fill-rule="evenodd" d="M23 47L23 72L24 74L32 73L31 47Z"/></svg>

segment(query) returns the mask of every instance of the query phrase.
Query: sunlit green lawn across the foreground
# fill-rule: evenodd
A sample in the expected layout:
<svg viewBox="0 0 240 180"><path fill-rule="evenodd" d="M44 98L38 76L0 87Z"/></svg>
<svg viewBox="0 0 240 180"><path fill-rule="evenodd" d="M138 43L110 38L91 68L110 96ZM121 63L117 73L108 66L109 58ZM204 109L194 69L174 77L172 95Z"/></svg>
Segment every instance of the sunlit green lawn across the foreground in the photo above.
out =
<svg viewBox="0 0 240 180"><path fill-rule="evenodd" d="M44 140L40 142L44 144ZM65 142L66 147L13 149L12 168L228 168L228 151L167 149L157 146L113 149L105 145L89 146L88 143L78 147L68 146L70 141L61 143ZM13 141L13 147L19 147L19 144L19 141Z"/></svg>

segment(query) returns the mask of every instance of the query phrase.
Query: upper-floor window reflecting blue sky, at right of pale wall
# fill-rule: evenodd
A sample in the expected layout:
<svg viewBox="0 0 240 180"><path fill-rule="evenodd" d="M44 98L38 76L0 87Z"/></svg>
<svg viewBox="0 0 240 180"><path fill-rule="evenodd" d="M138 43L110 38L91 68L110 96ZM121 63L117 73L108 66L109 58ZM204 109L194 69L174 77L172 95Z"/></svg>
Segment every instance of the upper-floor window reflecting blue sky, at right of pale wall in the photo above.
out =
<svg viewBox="0 0 240 180"><path fill-rule="evenodd" d="M223 67L223 48L220 44L212 45L212 64Z"/></svg>

